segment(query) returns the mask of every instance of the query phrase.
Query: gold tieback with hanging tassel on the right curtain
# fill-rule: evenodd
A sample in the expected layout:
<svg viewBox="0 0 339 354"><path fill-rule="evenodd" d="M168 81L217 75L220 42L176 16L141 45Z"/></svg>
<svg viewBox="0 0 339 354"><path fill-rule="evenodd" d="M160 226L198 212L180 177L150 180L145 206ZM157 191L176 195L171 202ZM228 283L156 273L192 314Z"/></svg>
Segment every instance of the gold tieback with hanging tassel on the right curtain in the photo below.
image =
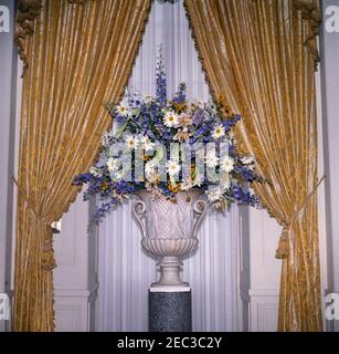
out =
<svg viewBox="0 0 339 354"><path fill-rule="evenodd" d="M301 207L289 218L288 221L283 223L283 231L279 238L278 248L275 251L276 259L287 259L289 256L289 244L288 244L288 236L292 228L293 222L300 216L300 214L305 210L306 206L308 205L310 198L315 195L318 190L318 187L321 185L322 180L326 176L322 176L312 190L306 196Z"/></svg>

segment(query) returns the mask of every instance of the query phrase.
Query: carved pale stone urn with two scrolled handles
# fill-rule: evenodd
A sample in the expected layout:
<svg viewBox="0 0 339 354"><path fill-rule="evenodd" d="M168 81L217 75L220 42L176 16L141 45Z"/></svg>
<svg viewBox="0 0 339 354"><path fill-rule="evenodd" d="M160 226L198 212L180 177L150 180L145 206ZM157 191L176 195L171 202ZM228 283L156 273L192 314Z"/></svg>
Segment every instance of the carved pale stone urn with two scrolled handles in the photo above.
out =
<svg viewBox="0 0 339 354"><path fill-rule="evenodd" d="M208 209L201 191L179 191L177 202L142 190L133 202L133 214L141 231L145 250L160 258L160 280L156 287L189 287L180 279L181 258L198 247L198 229Z"/></svg>

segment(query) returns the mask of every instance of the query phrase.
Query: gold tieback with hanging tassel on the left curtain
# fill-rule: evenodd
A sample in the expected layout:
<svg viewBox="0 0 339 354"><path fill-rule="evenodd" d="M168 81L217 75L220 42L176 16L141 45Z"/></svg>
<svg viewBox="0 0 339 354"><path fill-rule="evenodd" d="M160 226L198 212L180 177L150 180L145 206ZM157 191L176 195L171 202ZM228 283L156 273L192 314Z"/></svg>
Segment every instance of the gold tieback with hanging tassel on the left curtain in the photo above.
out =
<svg viewBox="0 0 339 354"><path fill-rule="evenodd" d="M27 196L27 194L19 187L19 184L14 177L12 177L13 183L18 188L19 195L24 199L29 209L32 211L34 218L38 222L42 222L46 228L46 232L43 241L43 254L42 254L42 269L43 270L52 270L56 267L53 251L53 230L52 226L46 222L44 216L41 216L34 208L31 199Z"/></svg>

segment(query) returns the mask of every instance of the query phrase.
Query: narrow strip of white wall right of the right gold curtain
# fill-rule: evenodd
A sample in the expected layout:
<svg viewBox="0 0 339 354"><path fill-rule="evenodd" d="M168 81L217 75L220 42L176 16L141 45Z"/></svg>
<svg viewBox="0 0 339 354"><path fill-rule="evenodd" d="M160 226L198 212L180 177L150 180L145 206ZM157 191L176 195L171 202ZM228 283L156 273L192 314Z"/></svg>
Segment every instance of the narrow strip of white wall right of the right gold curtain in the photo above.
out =
<svg viewBox="0 0 339 354"><path fill-rule="evenodd" d="M326 233L328 291L339 293L339 32L327 32L326 9L337 6L337 28L339 28L339 3L337 0L322 0L324 25L320 32L321 91L324 122L324 155L326 186ZM339 321L328 322L329 329L339 332Z"/></svg>

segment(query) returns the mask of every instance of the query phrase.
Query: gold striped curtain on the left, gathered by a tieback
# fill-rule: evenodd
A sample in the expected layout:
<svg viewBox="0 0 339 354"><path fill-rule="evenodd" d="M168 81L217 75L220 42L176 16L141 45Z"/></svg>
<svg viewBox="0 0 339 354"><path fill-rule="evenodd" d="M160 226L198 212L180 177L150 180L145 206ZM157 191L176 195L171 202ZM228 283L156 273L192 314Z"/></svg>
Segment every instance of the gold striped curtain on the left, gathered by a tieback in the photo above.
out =
<svg viewBox="0 0 339 354"><path fill-rule="evenodd" d="M118 103L150 9L147 0L23 0L23 79L15 238L15 331L53 331L52 221L75 199Z"/></svg>

